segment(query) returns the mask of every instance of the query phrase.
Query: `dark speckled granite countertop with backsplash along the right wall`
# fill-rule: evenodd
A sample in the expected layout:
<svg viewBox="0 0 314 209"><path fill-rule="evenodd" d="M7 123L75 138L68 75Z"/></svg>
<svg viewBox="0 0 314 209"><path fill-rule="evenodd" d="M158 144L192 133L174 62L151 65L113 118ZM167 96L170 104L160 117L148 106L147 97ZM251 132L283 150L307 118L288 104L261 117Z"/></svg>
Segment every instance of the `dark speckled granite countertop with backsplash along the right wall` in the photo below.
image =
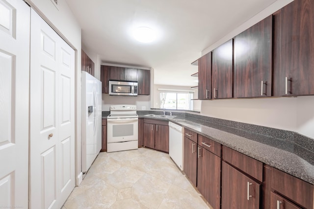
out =
<svg viewBox="0 0 314 209"><path fill-rule="evenodd" d="M276 131L276 136L284 136L280 138L269 136L271 134L265 135L261 134L261 132L256 133L258 127L254 127L255 132L244 131L193 117L187 117L184 114L179 114L173 118L145 116L147 114L158 113L160 114L161 112L143 111L138 112L138 115L140 118L153 118L174 122L244 155L257 159L308 183L314 184L314 152L311 149L306 149L291 141L291 138L295 137L295 134L293 134L294 132L283 130L278 131L274 129L274 131ZM199 118L203 119L204 116L199 116ZM243 124L241 124L241 126L243 126ZM261 127L261 129L265 129L265 127ZM279 134L278 132L281 133ZM290 139L288 140L285 137ZM314 140L310 139L309 146L314 149L312 146L313 141Z"/></svg>

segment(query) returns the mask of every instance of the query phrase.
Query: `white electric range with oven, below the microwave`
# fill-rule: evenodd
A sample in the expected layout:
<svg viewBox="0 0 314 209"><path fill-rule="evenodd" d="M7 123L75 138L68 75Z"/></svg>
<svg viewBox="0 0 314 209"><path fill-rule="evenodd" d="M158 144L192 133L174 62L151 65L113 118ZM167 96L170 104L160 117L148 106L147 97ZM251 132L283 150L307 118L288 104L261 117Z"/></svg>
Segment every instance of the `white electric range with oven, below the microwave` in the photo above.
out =
<svg viewBox="0 0 314 209"><path fill-rule="evenodd" d="M107 117L107 152L138 148L138 115L136 105L110 106Z"/></svg>

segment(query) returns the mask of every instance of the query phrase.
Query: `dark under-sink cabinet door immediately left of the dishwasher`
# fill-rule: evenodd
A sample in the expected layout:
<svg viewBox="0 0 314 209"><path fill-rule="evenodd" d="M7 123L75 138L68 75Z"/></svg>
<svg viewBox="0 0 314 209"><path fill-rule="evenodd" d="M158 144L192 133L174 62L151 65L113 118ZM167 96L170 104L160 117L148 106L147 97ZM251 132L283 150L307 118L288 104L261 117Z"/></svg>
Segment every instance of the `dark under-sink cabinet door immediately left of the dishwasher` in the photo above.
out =
<svg viewBox="0 0 314 209"><path fill-rule="evenodd" d="M169 153L169 126L155 125L155 149Z"/></svg>

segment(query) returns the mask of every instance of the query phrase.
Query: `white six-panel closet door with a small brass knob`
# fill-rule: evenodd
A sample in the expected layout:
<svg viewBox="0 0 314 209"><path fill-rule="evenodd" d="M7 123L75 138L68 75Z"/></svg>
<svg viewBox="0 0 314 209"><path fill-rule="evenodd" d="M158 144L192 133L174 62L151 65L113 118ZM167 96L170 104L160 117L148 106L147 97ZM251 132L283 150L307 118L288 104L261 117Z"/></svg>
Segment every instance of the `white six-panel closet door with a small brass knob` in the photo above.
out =
<svg viewBox="0 0 314 209"><path fill-rule="evenodd" d="M30 19L30 208L60 209L75 186L75 52Z"/></svg>

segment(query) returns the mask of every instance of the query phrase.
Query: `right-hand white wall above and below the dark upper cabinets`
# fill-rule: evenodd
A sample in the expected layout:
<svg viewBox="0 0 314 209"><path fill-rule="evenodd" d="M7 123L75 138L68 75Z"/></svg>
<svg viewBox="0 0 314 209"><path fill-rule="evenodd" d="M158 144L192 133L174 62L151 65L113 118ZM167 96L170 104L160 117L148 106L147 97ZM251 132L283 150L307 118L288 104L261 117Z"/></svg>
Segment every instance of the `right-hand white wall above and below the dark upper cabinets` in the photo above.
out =
<svg viewBox="0 0 314 209"><path fill-rule="evenodd" d="M202 54L210 52L291 1L277 0L261 13L209 46ZM313 104L314 96L202 101L201 114L215 118L296 131L314 138Z"/></svg>

